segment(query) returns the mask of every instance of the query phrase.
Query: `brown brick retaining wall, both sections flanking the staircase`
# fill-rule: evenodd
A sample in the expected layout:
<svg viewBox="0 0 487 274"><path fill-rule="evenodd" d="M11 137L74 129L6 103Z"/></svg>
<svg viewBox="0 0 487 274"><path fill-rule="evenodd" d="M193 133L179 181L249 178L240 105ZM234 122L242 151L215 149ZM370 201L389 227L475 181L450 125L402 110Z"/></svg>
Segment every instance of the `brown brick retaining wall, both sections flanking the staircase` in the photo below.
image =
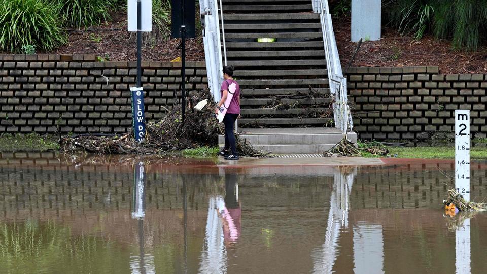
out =
<svg viewBox="0 0 487 274"><path fill-rule="evenodd" d="M179 101L181 63L142 66L146 117L158 119ZM127 132L135 67L135 62L97 62L94 55L0 55L0 132L54 133L58 125L62 133ZM186 88L206 88L204 62L186 67ZM487 137L484 74L356 67L347 77L361 139L422 140L432 131L452 132L456 109L471 110L472 132Z"/></svg>

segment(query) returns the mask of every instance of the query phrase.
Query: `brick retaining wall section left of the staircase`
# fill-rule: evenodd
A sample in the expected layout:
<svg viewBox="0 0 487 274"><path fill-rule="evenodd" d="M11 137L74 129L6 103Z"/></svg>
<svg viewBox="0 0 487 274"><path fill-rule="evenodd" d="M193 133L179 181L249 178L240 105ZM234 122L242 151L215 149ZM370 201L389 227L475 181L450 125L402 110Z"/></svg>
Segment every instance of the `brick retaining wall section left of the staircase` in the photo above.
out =
<svg viewBox="0 0 487 274"><path fill-rule="evenodd" d="M180 99L181 63L142 68L146 117L161 118ZM135 76L136 62L94 55L0 55L0 132L127 132ZM206 88L204 62L187 62L186 77L187 90Z"/></svg>

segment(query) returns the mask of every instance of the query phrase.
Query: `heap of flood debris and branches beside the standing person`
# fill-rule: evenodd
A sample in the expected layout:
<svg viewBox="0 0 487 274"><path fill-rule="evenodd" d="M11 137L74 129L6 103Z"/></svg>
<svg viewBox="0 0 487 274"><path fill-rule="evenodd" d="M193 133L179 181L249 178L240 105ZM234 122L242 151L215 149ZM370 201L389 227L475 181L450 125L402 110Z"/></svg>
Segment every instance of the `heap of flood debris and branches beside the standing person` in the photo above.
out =
<svg viewBox="0 0 487 274"><path fill-rule="evenodd" d="M193 102L206 100L207 104ZM60 144L66 153L84 151L96 154L159 154L165 155L173 151L180 151L199 146L214 147L218 145L218 134L223 134L222 124L215 118L215 102L207 90L194 91L188 96L189 107L186 111L184 125L182 123L181 106L175 106L167 115L154 122L146 124L146 139L138 143L133 133L100 136L82 134L61 138ZM202 106L204 105L204 106ZM237 151L241 156L259 157L266 153L257 151L238 135Z"/></svg>

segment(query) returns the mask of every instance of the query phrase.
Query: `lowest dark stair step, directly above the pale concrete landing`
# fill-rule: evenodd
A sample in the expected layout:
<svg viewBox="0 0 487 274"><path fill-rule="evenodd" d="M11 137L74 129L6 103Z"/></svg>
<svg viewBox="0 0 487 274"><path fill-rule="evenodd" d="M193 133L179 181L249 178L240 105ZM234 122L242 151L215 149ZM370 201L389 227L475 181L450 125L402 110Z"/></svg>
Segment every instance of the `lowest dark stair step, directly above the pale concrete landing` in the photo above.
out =
<svg viewBox="0 0 487 274"><path fill-rule="evenodd" d="M332 120L332 119L331 119ZM238 119L239 127L262 126L302 126L302 125L325 125L330 123L330 118L265 118L265 119Z"/></svg>

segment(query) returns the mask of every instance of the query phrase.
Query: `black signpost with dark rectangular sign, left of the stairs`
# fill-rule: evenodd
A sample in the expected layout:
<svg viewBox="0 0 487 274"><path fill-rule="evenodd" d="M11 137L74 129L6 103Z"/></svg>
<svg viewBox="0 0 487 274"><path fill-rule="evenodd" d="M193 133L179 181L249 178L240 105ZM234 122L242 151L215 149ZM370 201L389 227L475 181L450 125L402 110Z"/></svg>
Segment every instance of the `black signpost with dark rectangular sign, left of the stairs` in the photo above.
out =
<svg viewBox="0 0 487 274"><path fill-rule="evenodd" d="M172 0L171 32L172 38L181 38L181 100L182 123L186 114L186 38L195 37L195 5L194 0ZM179 12L178 12L179 11Z"/></svg>

